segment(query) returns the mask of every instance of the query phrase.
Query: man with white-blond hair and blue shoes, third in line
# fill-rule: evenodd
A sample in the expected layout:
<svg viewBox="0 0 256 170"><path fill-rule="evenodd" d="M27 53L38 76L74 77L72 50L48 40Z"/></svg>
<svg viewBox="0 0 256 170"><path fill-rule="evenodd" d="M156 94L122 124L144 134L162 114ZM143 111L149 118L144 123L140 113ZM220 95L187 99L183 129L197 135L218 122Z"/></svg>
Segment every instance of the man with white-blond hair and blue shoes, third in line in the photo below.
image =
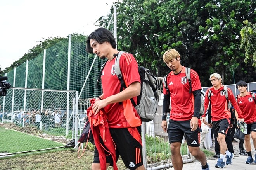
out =
<svg viewBox="0 0 256 170"><path fill-rule="evenodd" d="M206 97L204 99L204 108L205 112L202 116L202 122L205 122L205 114L208 104L210 102L208 93L211 90L211 120L213 124L213 128L216 131L216 137L218 143L220 144L220 158L218 158L216 168L224 168L225 165L231 165L232 160L234 158L234 153L230 153L227 149L227 143L225 138L227 136L228 129L230 127L230 119L231 113L228 110L228 103L225 97L224 86L221 83L221 76L218 73L213 73L210 75L210 80L213 87L208 88L206 90ZM232 90L228 88L228 100L230 100L231 104L238 111L239 121L244 121L241 110L239 109L237 102L235 101L235 97L232 93ZM225 153L227 156L226 163L224 162Z"/></svg>

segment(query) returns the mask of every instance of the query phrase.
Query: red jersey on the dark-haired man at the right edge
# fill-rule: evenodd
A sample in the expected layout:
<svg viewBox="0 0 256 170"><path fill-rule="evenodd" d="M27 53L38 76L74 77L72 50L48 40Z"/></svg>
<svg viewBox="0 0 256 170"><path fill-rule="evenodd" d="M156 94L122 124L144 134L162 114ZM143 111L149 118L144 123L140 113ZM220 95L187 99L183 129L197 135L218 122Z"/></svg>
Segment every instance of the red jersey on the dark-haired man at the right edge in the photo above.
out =
<svg viewBox="0 0 256 170"><path fill-rule="evenodd" d="M256 122L256 104L250 92L244 97L238 95L237 104L243 113L244 122L247 124Z"/></svg>

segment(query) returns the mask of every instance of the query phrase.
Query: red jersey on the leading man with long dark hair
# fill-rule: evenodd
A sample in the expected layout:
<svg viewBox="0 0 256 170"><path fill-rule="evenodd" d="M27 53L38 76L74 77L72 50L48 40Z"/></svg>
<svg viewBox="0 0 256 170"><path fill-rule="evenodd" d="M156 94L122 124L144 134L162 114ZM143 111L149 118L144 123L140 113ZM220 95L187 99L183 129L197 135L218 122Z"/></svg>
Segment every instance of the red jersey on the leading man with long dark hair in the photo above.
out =
<svg viewBox="0 0 256 170"><path fill-rule="evenodd" d="M104 98L120 92L121 83L115 72L115 60L107 62L102 70L102 89ZM138 64L132 54L123 53L120 57L120 70L126 85L133 82L140 82ZM133 98L137 102L137 97ZM141 120L130 99L119 103L109 104L104 107L109 128L127 128L141 125Z"/></svg>

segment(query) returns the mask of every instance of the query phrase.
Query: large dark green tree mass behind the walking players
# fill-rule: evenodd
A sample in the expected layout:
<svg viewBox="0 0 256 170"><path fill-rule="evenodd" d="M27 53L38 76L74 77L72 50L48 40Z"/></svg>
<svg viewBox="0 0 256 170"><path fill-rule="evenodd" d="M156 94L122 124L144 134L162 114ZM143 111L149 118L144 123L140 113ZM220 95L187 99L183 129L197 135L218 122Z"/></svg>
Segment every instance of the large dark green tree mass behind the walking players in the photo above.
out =
<svg viewBox="0 0 256 170"><path fill-rule="evenodd" d="M117 7L118 49L130 51L140 65L164 76L170 70L162 61L167 49L175 48L182 64L194 68L202 86L209 86L209 75L218 72L225 83L249 77L255 69L244 67L239 50L242 21L255 20L251 0L123 0ZM100 26L106 26L101 17ZM240 73L242 71L242 73Z"/></svg>

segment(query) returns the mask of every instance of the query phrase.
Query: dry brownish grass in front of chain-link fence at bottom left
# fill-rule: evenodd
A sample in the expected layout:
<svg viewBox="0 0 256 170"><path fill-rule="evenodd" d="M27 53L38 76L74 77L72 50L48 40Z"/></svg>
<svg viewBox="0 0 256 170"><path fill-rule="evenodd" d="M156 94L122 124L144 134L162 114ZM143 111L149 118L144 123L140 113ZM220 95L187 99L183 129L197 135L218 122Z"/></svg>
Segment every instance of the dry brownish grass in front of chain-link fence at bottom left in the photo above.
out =
<svg viewBox="0 0 256 170"><path fill-rule="evenodd" d="M0 170L90 170L93 153L85 151L78 158L77 150L64 150L51 153L33 154L0 159ZM119 170L126 170L123 162L118 160ZM108 170L112 168L109 167Z"/></svg>

